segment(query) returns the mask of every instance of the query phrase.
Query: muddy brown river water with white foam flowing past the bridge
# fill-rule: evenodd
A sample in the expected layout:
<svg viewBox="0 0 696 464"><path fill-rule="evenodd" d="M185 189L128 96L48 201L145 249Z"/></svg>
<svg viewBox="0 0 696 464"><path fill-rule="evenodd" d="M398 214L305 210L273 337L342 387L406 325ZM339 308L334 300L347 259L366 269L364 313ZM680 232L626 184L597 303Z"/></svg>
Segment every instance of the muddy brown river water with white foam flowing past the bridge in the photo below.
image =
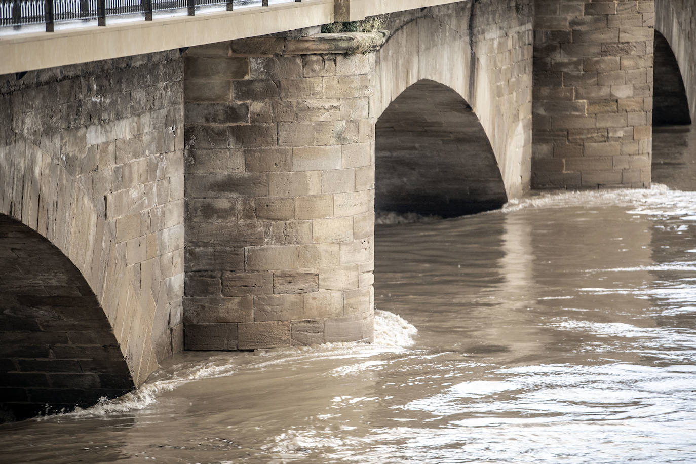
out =
<svg viewBox="0 0 696 464"><path fill-rule="evenodd" d="M374 344L184 353L0 426L0 461L694 463L690 163L658 166L670 187L383 215Z"/></svg>

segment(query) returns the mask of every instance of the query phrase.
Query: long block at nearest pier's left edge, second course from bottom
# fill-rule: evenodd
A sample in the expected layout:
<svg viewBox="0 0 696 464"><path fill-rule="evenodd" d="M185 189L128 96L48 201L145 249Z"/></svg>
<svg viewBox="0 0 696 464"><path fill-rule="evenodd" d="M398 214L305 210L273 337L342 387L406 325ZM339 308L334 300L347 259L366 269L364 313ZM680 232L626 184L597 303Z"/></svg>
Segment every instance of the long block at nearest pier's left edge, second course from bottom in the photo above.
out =
<svg viewBox="0 0 696 464"><path fill-rule="evenodd" d="M221 298L184 298L184 323L232 323L253 321L253 299L251 296Z"/></svg>

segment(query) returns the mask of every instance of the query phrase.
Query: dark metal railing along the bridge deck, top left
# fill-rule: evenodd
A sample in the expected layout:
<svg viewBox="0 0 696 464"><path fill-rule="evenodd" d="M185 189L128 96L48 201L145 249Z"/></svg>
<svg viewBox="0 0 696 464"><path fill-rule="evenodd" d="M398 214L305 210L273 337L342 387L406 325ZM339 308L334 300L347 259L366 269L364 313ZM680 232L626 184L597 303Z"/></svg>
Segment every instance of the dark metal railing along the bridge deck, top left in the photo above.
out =
<svg viewBox="0 0 696 464"><path fill-rule="evenodd" d="M152 21L153 11L187 8L188 15L196 14L197 6L226 5L234 10L234 3L248 5L248 0L0 0L0 27L19 27L25 24L46 24L46 31L53 32L56 22L97 19L106 26L107 16L142 13L145 21ZM287 0L302 1L302 0ZM269 6L269 0L261 0L261 6Z"/></svg>

